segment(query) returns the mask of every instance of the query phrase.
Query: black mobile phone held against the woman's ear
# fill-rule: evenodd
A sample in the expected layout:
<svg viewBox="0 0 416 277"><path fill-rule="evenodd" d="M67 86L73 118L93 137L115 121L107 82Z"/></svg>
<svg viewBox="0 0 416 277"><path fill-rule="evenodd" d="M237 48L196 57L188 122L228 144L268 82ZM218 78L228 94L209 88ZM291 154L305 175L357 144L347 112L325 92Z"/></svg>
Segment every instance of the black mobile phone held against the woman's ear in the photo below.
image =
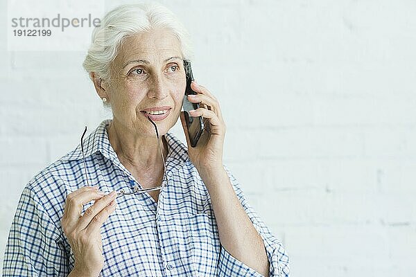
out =
<svg viewBox="0 0 416 277"><path fill-rule="evenodd" d="M191 62L184 60L184 68L185 73L187 74L187 88L185 89L184 102L182 106L184 108L185 120L187 122L189 141L191 141L192 147L196 147L196 144L204 131L204 120L202 116L192 117L189 115L189 111L191 111L191 109L198 109L200 105L198 103L189 102L187 97L189 94L196 94L196 92L191 89L191 82L193 81Z"/></svg>

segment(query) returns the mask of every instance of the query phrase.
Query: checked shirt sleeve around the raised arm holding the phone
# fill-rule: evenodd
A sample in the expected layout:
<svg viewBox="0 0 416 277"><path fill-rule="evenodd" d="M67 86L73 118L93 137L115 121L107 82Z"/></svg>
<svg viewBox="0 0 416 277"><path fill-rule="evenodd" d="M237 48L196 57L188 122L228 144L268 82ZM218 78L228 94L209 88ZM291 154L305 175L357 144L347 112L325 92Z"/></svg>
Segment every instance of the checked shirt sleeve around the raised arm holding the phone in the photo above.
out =
<svg viewBox="0 0 416 277"><path fill-rule="evenodd" d="M239 198L241 205L244 208L245 213L252 221L254 228L259 232L263 243L266 248L268 261L270 263L270 277L286 277L289 276L289 257L284 250L281 242L275 238L275 236L269 231L266 224L259 218L253 208L247 203L243 195L243 191L240 188L239 182L234 178L231 172L225 168L229 176L229 180ZM243 264L230 253L228 253L223 247L221 247L220 259L218 261L218 276L255 276L259 277L259 274L254 269L251 269L247 265Z"/></svg>

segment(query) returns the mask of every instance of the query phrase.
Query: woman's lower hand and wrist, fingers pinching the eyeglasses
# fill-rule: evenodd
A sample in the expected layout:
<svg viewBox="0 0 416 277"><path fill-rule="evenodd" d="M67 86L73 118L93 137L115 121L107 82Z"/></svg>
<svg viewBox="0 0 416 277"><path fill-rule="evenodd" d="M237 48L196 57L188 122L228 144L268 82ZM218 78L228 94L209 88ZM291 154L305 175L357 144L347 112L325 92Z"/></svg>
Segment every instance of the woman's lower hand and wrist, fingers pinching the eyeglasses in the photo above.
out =
<svg viewBox="0 0 416 277"><path fill-rule="evenodd" d="M61 220L64 234L75 256L70 276L98 276L103 269L101 226L116 209L117 193L105 195L95 187L83 187L70 193ZM92 200L94 205L81 215L83 206Z"/></svg>

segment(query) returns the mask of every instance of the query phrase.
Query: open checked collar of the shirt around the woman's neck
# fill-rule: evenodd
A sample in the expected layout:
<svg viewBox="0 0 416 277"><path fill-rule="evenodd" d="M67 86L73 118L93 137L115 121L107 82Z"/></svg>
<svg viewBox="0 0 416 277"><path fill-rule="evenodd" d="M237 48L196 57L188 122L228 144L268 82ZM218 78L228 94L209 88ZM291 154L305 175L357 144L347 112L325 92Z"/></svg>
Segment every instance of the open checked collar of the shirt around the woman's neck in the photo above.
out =
<svg viewBox="0 0 416 277"><path fill-rule="evenodd" d="M100 152L104 157L110 161L119 162L116 152L110 144L110 140L107 135L107 126L110 124L111 120L103 120L103 122L98 125L98 127L84 139L84 153L85 159L91 156L96 152ZM188 149L173 134L167 133L165 136L166 142L168 144L168 157L166 163L169 159L172 159L174 163L171 165L173 168L182 166L188 159ZM83 159L83 152L81 151L81 145L78 144L75 150L69 152L62 159L67 161L74 161Z"/></svg>

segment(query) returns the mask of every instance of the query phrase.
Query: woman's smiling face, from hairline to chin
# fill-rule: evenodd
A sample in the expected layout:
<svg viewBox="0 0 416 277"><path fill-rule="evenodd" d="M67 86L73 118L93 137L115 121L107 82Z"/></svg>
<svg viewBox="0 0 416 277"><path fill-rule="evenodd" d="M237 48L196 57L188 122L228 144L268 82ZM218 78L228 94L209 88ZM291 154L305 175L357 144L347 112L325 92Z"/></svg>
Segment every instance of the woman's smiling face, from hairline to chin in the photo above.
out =
<svg viewBox="0 0 416 277"><path fill-rule="evenodd" d="M117 124L140 136L166 134L180 115L187 84L179 40L168 30L127 37L107 93Z"/></svg>

